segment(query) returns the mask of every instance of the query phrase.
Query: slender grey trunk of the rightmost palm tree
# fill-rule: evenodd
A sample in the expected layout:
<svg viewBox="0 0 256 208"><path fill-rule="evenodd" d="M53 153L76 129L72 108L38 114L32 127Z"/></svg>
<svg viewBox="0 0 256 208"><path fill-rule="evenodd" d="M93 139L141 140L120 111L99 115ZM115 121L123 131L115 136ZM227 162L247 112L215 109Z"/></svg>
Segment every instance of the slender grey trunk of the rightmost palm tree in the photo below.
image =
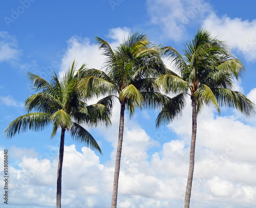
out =
<svg viewBox="0 0 256 208"><path fill-rule="evenodd" d="M196 120L196 101L194 95L191 96L192 99L192 137L191 137L191 146L190 146L190 155L189 155L189 175L186 187L185 194L185 206L184 208L189 208L191 189L192 189L192 180L195 166L195 139L196 139L196 129L197 129L197 120Z"/></svg>

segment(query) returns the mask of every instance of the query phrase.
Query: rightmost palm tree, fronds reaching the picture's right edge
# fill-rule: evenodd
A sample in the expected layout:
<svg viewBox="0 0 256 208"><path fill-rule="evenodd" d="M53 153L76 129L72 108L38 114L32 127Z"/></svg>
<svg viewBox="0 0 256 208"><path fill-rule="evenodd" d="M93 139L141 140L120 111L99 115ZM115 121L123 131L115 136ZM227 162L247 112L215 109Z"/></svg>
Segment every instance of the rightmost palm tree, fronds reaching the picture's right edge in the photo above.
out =
<svg viewBox="0 0 256 208"><path fill-rule="evenodd" d="M197 114L204 105L233 107L245 116L256 113L255 105L241 92L233 90L234 81L244 73L241 61L228 51L226 43L211 37L207 30L199 29L195 38L186 43L184 55L173 47L163 48L163 54L171 58L175 72L169 71L156 84L165 92L188 95L192 101L192 137L189 158L189 174L185 194L185 208L189 208L195 163L195 139ZM185 102L185 101L183 101ZM157 117L157 126L172 121L175 113L168 106L163 107Z"/></svg>

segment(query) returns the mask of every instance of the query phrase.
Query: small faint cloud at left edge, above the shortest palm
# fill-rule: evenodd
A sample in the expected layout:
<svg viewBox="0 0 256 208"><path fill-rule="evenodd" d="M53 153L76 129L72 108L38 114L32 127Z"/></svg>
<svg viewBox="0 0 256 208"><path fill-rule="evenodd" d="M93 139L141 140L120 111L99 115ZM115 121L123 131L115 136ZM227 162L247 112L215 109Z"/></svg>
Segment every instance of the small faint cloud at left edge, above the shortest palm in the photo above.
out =
<svg viewBox="0 0 256 208"><path fill-rule="evenodd" d="M0 31L0 62L17 59L21 54L17 47L17 40L13 36Z"/></svg>

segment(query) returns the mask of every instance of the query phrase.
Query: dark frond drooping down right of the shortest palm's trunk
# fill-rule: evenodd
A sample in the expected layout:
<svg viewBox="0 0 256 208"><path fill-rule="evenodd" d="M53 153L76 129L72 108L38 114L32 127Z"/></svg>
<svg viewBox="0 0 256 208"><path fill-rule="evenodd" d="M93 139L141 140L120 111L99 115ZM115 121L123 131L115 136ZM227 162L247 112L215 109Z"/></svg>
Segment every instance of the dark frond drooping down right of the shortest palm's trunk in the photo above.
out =
<svg viewBox="0 0 256 208"><path fill-rule="evenodd" d="M90 147L91 150L97 150L102 154L102 150L100 149L99 144L96 142L93 136L79 124L74 122L72 123L70 128L70 135L75 141L85 144L87 147Z"/></svg>

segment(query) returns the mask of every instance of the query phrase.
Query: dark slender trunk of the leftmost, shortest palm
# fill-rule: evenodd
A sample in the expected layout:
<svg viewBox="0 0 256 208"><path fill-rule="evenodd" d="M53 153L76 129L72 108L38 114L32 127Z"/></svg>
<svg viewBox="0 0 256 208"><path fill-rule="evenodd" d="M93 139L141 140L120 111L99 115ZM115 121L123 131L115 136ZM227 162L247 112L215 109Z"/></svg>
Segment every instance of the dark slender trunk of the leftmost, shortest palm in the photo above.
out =
<svg viewBox="0 0 256 208"><path fill-rule="evenodd" d="M61 128L61 142L59 151L59 163L57 172L57 196L56 196L56 208L61 208L61 176L62 176L62 164L64 156L64 136L65 129Z"/></svg>

